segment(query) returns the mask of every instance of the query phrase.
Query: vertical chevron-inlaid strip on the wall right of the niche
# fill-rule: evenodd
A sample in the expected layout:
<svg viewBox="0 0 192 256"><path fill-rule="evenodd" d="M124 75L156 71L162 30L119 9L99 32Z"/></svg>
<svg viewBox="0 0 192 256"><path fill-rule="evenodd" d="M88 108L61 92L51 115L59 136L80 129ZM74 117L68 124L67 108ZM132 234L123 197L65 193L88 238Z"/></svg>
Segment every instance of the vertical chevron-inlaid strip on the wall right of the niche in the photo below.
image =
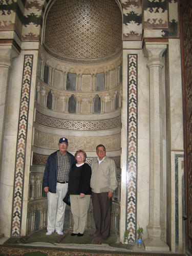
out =
<svg viewBox="0 0 192 256"><path fill-rule="evenodd" d="M136 241L136 185L137 185L137 54L128 55L128 111L127 138L128 159L126 173L126 229L129 243Z"/></svg>

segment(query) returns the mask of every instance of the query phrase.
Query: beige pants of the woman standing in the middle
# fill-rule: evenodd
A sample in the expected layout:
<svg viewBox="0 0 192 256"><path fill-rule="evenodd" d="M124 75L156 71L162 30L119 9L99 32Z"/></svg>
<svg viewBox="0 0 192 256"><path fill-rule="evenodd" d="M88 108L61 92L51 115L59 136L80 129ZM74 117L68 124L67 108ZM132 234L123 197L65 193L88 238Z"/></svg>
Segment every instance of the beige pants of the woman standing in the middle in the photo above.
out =
<svg viewBox="0 0 192 256"><path fill-rule="evenodd" d="M80 198L80 195L70 195L71 212L73 215L74 226L73 233L84 233L86 229L88 209L91 195Z"/></svg>

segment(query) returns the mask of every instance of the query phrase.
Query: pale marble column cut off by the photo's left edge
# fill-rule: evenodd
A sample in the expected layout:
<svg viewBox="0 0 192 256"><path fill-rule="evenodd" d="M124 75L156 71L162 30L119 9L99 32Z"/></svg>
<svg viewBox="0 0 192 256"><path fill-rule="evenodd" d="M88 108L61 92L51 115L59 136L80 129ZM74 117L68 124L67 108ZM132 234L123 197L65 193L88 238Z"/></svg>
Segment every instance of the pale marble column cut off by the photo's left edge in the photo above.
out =
<svg viewBox="0 0 192 256"><path fill-rule="evenodd" d="M0 162L2 162L2 147L5 126L5 111L7 102L7 91L9 84L9 75L12 68L12 59L17 57L18 50L13 45L0 46ZM1 168L1 167L0 167ZM1 170L0 170L1 173Z"/></svg>

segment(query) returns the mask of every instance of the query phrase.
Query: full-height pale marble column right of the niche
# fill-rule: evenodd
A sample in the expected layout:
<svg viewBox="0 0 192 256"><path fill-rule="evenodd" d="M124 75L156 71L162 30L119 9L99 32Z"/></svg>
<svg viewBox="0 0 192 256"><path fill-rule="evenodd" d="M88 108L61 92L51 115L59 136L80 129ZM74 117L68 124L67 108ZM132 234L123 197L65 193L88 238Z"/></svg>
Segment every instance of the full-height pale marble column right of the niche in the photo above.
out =
<svg viewBox="0 0 192 256"><path fill-rule="evenodd" d="M144 241L147 251L169 251L164 242L165 227L162 224L163 193L163 115L162 115L162 68L166 44L146 43L144 55L148 57L150 74L150 222L148 238Z"/></svg>

